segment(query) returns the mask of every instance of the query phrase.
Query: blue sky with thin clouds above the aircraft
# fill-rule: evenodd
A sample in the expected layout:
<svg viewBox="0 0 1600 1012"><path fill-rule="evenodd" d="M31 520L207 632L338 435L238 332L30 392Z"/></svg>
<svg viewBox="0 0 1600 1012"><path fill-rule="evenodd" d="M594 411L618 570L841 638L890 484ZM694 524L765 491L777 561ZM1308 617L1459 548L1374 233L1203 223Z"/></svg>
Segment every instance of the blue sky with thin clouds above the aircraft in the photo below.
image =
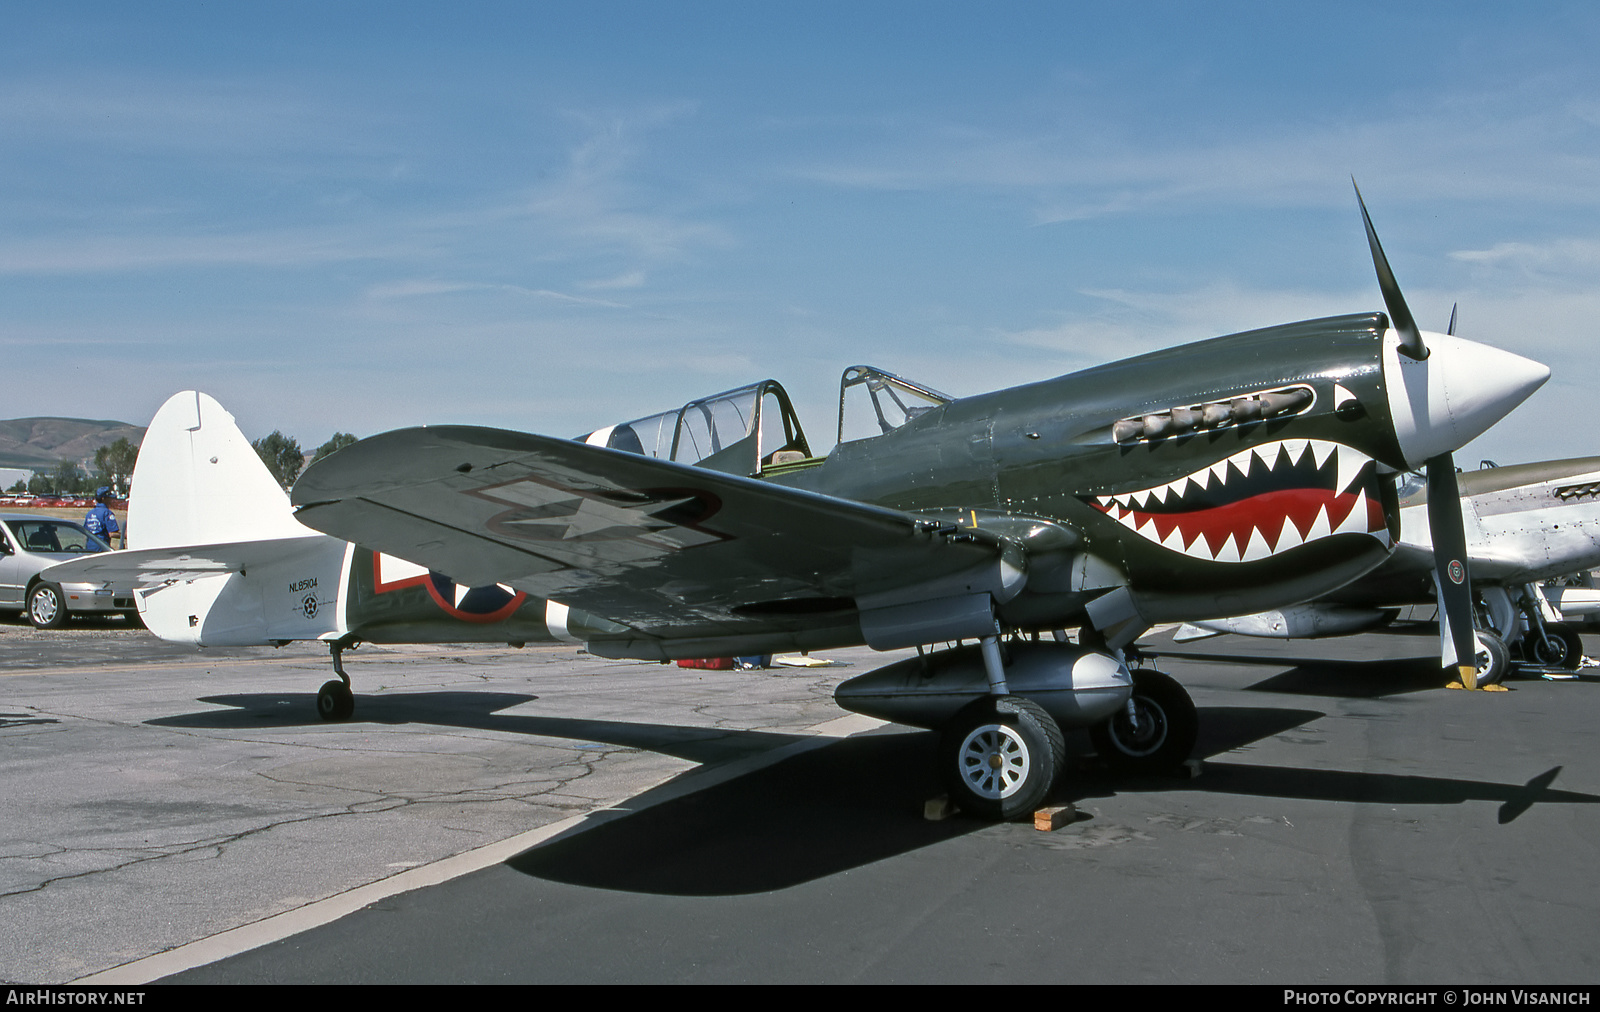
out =
<svg viewBox="0 0 1600 1012"><path fill-rule="evenodd" d="M858 362L1381 309L1354 175L1424 327L1555 370L1461 463L1600 453L1597 11L6 3L0 416L565 436L774 376L826 445Z"/></svg>

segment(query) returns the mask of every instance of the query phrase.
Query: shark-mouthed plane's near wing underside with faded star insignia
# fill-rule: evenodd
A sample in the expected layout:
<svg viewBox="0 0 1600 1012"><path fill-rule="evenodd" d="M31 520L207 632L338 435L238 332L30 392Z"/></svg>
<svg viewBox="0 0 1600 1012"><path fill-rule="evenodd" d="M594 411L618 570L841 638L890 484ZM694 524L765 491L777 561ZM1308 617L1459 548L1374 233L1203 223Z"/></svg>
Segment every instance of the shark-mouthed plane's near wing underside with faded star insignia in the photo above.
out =
<svg viewBox="0 0 1600 1012"><path fill-rule="evenodd" d="M840 626L862 597L976 592L1002 570L984 532L499 429L374 436L312 464L291 498L315 530L659 639Z"/></svg>

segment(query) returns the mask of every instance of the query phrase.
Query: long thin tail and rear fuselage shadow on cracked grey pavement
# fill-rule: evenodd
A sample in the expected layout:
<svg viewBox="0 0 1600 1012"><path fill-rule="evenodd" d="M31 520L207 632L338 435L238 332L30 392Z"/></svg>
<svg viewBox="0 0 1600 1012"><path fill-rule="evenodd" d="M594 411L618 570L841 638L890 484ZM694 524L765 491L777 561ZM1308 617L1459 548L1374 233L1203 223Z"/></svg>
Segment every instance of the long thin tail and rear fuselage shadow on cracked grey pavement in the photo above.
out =
<svg viewBox="0 0 1600 1012"><path fill-rule="evenodd" d="M310 695L232 693L202 697L200 701L230 706L234 709L155 717L146 721L146 724L158 727L210 727L218 730L432 724L437 727L498 730L541 738L638 748L664 756L677 756L690 762L726 762L750 753L763 753L794 741L810 740L810 735L782 735L722 727L683 727L677 724L637 724L498 713L531 703L538 698L536 695L517 692L357 695L357 719L342 725L330 725L317 717L317 700Z"/></svg>

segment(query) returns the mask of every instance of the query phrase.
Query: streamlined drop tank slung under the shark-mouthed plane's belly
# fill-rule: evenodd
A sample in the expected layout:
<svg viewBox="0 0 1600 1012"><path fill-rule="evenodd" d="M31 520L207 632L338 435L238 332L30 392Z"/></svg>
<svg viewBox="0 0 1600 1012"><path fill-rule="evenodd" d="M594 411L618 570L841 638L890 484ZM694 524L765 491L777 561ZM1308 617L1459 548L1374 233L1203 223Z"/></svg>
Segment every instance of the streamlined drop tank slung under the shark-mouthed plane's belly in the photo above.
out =
<svg viewBox="0 0 1600 1012"><path fill-rule="evenodd" d="M1005 647L1006 685L1050 713L1062 729L1088 727L1128 701L1128 669L1109 653L1072 644ZM962 706L989 695L979 647L910 657L853 677L834 690L845 709L910 727L942 727Z"/></svg>

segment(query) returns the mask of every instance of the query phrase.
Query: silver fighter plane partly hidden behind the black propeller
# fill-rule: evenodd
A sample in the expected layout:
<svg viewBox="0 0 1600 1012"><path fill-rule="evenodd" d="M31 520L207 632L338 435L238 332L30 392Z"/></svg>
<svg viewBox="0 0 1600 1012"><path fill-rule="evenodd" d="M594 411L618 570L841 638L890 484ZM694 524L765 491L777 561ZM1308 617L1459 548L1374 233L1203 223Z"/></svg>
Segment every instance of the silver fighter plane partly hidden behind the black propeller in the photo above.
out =
<svg viewBox="0 0 1600 1012"><path fill-rule="evenodd" d="M1534 665L1576 669L1582 639L1541 588L1544 580L1600 567L1600 456L1485 468L1459 476L1478 636L1491 663L1509 668L1507 645ZM1397 605L1434 600L1434 541L1421 476L1402 482L1400 541L1378 568L1318 600L1274 612L1194 623L1176 639L1237 632L1270 639L1344 636L1384 624Z"/></svg>

